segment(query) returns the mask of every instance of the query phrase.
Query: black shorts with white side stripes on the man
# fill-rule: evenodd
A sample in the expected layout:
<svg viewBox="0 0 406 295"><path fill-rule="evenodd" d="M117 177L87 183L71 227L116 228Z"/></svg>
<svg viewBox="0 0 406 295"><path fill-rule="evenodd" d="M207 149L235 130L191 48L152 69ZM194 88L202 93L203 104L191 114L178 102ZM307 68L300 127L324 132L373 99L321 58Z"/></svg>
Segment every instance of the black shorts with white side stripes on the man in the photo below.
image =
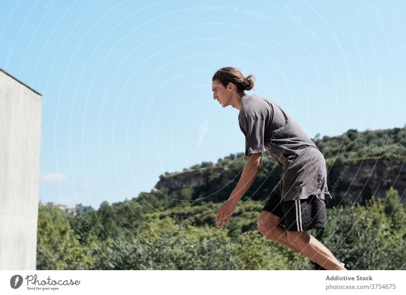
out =
<svg viewBox="0 0 406 295"><path fill-rule="evenodd" d="M307 199L283 202L281 196L272 192L262 210L280 217L279 224L285 227L285 231L325 229L327 222L326 203L315 195Z"/></svg>

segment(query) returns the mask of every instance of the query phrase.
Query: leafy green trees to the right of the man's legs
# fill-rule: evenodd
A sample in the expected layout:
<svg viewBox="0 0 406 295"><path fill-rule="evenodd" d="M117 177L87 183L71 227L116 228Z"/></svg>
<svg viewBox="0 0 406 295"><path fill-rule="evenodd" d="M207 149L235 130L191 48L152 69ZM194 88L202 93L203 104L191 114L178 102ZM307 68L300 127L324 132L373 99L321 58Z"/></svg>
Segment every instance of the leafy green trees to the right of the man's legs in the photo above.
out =
<svg viewBox="0 0 406 295"><path fill-rule="evenodd" d="M364 207L348 204L328 209L326 231L319 238L348 269L404 269L402 234L394 235L381 200Z"/></svg>

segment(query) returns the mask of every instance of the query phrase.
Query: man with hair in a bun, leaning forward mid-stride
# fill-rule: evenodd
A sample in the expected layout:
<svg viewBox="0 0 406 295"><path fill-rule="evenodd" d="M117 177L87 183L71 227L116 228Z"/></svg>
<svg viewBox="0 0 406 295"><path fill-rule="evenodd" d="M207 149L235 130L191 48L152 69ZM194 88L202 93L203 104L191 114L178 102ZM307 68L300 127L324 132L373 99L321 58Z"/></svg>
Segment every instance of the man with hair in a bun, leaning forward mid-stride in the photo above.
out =
<svg viewBox="0 0 406 295"><path fill-rule="evenodd" d="M267 151L281 166L282 179L258 218L265 237L302 253L326 270L346 270L344 264L315 237L312 228L324 229L327 189L323 155L302 128L275 101L244 90L254 87L254 77L244 77L235 67L216 71L213 98L223 107L239 109L240 129L246 137L247 163L228 200L216 214L217 227L229 225L236 204L244 196L260 169L261 154Z"/></svg>

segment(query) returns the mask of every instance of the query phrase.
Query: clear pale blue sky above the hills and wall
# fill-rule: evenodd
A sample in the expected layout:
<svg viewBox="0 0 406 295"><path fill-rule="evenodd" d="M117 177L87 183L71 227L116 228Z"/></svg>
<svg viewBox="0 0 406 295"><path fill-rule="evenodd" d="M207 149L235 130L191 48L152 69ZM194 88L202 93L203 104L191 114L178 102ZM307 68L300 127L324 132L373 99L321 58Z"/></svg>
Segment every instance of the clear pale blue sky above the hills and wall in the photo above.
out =
<svg viewBox="0 0 406 295"><path fill-rule="evenodd" d="M313 138L406 122L404 2L2 1L0 67L43 95L41 202L98 208L244 151L223 66Z"/></svg>

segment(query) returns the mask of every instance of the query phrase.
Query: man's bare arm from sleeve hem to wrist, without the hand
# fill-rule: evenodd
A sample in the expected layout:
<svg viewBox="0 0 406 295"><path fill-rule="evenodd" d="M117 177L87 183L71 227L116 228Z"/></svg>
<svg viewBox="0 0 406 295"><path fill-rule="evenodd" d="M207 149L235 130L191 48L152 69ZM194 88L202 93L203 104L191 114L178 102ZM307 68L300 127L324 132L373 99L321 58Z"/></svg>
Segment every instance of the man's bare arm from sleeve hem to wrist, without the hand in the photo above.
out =
<svg viewBox="0 0 406 295"><path fill-rule="evenodd" d="M252 183L255 180L255 177L261 169L261 155L262 153L254 153L248 155L247 163L244 166L241 178L227 201L230 201L234 204L238 203L238 201L241 200L244 194L251 187Z"/></svg>

